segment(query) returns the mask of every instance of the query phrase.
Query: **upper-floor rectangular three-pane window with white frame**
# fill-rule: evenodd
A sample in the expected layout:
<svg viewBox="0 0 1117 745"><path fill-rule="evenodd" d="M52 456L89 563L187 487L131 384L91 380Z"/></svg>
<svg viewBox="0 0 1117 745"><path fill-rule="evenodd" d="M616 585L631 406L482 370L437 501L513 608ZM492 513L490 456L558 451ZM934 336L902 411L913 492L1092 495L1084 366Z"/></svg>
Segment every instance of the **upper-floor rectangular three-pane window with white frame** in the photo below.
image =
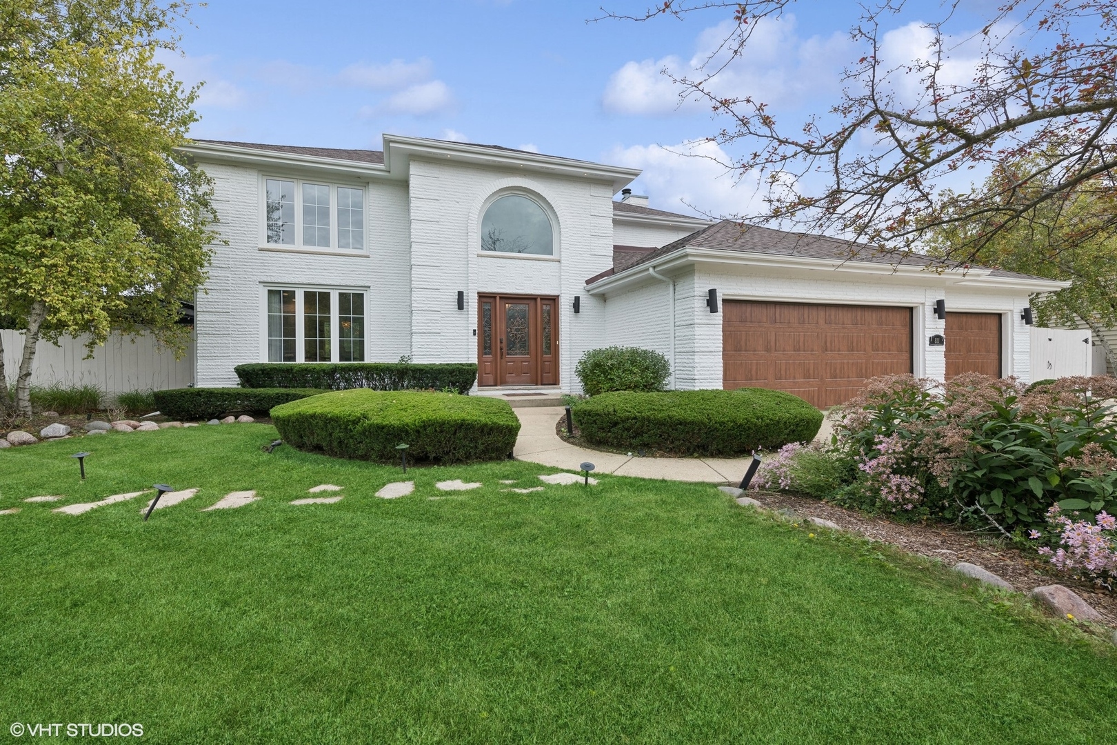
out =
<svg viewBox="0 0 1117 745"><path fill-rule="evenodd" d="M364 189L264 179L264 240L286 248L364 249Z"/></svg>

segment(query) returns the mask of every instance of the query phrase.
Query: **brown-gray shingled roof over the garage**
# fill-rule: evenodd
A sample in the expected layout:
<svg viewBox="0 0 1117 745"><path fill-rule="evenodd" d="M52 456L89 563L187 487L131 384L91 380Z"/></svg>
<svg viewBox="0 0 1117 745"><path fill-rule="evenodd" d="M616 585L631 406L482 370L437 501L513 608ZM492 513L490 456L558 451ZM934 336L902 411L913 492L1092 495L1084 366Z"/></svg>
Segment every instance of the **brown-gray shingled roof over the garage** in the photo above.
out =
<svg viewBox="0 0 1117 745"><path fill-rule="evenodd" d="M746 226L735 220L722 220L708 228L695 231L689 236L668 243L655 251L646 254L639 260L629 264L624 269L655 261L681 248L713 248L742 254L768 254L773 256L802 256L815 259L851 259L856 261L872 261L894 266L926 267L936 264L935 259L920 254L899 254L880 251L867 243L849 240L812 236L805 232L789 232L761 226ZM972 267L984 269L985 267ZM615 267L615 271L623 271ZM991 276L1013 277L1018 279L1042 279L1033 275L1005 269L993 269Z"/></svg>

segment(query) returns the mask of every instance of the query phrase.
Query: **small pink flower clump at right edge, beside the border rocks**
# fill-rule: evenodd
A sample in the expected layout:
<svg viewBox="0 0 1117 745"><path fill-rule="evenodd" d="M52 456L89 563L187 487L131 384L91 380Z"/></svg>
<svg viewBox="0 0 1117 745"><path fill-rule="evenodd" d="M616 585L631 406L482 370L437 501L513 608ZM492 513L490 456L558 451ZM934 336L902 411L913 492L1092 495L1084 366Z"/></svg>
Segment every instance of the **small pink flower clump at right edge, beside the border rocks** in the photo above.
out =
<svg viewBox="0 0 1117 745"><path fill-rule="evenodd" d="M1077 517L1078 513L1073 513ZM1052 505L1047 514L1052 533L1058 536L1058 548L1041 546L1039 553L1048 556L1058 569L1080 580L1088 580L1107 590L1117 580L1117 518L1105 510L1094 522L1072 520ZM1033 541L1042 538L1039 531L1029 531Z"/></svg>

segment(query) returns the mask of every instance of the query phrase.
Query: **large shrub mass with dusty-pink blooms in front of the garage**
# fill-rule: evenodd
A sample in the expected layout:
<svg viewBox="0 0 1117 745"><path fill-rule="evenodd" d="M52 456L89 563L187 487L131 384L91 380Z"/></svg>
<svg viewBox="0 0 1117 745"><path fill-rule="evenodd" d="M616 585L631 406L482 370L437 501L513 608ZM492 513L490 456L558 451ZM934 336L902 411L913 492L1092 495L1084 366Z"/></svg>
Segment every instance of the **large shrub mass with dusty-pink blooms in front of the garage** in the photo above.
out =
<svg viewBox="0 0 1117 745"><path fill-rule="evenodd" d="M1046 527L1052 505L1117 508L1115 399L1117 380L1102 376L1031 388L975 373L876 378L837 412L830 445L781 451L763 484L805 493L799 474L825 461L838 486L818 495L815 484L817 496L1022 534Z"/></svg>

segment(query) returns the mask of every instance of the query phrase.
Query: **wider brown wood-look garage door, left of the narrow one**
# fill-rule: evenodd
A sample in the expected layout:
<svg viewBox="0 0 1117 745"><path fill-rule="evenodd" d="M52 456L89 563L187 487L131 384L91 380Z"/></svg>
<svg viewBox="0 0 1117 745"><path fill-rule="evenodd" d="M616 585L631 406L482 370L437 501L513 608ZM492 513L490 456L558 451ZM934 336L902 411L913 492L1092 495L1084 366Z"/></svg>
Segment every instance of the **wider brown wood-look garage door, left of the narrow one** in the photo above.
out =
<svg viewBox="0 0 1117 745"><path fill-rule="evenodd" d="M875 375L911 372L911 308L725 300L722 381L773 388L817 407Z"/></svg>

